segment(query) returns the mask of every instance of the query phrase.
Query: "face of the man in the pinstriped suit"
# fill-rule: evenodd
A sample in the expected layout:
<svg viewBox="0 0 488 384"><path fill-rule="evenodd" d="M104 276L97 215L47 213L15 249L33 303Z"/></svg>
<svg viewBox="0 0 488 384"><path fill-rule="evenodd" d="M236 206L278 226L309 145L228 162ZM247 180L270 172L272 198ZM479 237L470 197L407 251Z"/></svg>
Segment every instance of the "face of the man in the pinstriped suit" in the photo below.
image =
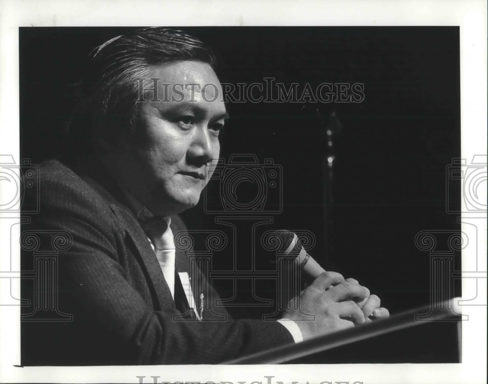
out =
<svg viewBox="0 0 488 384"><path fill-rule="evenodd" d="M116 144L114 171L123 188L153 214L165 216L199 201L208 182L205 164L219 157L226 110L221 84L208 64L179 61L150 69L149 78L161 79L161 101L152 101L152 92L145 95L136 139Z"/></svg>

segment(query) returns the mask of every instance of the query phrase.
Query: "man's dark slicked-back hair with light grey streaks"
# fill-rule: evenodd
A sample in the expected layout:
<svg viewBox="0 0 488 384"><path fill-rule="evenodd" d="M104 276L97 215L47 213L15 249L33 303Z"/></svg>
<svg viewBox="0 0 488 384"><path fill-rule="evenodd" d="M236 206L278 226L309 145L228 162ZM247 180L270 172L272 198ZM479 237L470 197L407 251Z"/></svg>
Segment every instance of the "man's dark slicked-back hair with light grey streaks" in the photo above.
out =
<svg viewBox="0 0 488 384"><path fill-rule="evenodd" d="M89 57L85 78L76 85L79 101L67 124L69 152L86 151L94 136L134 132L140 103L139 81L149 66L201 61L215 67L210 47L182 31L162 27L135 30L105 41ZM148 79L147 79L148 80ZM71 144L71 145L70 145Z"/></svg>

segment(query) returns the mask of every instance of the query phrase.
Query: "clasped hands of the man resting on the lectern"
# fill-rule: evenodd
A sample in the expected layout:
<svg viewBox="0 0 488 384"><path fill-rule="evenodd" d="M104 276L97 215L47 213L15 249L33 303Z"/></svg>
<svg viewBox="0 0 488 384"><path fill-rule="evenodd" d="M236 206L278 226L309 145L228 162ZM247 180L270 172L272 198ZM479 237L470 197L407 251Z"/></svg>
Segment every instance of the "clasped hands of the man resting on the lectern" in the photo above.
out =
<svg viewBox="0 0 488 384"><path fill-rule="evenodd" d="M387 318L389 312L380 303L380 298L371 295L357 280L344 279L337 272L324 272L292 299L283 318L294 320L304 340L308 340Z"/></svg>

